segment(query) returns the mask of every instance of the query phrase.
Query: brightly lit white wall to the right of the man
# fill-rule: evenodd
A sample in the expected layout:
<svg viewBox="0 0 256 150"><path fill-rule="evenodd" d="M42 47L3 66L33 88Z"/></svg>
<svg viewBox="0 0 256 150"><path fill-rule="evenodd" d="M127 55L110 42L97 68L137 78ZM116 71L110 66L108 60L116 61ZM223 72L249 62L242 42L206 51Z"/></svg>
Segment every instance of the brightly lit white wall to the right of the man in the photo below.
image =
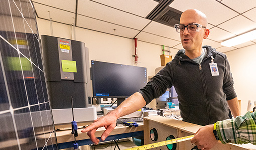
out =
<svg viewBox="0 0 256 150"><path fill-rule="evenodd" d="M256 45L240 48L225 53L228 57L231 72L234 78L234 87L241 100L242 114L247 112L248 100L251 100L251 109L256 101Z"/></svg>

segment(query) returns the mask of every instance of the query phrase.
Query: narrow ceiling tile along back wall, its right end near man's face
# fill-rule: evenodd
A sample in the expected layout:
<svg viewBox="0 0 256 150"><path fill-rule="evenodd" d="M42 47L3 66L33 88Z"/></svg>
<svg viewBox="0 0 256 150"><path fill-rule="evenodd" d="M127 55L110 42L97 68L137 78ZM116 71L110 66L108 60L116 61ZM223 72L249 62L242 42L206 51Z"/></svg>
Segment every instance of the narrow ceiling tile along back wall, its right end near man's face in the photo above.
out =
<svg viewBox="0 0 256 150"><path fill-rule="evenodd" d="M168 46L173 47L180 43L179 41L160 37L160 36L149 34L146 32L140 32L140 34L138 34L135 38L137 38L140 41L145 41L145 42L154 43L158 45L165 45L166 47Z"/></svg>

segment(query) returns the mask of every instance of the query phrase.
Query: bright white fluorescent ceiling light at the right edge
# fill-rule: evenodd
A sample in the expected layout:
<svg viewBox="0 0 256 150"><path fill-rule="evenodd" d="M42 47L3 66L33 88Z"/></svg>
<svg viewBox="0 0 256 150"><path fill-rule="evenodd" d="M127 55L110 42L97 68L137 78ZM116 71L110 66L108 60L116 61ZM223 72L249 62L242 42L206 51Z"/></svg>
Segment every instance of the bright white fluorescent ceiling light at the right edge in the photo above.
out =
<svg viewBox="0 0 256 150"><path fill-rule="evenodd" d="M256 39L256 30L228 39L220 44L226 47L232 47L253 39Z"/></svg>

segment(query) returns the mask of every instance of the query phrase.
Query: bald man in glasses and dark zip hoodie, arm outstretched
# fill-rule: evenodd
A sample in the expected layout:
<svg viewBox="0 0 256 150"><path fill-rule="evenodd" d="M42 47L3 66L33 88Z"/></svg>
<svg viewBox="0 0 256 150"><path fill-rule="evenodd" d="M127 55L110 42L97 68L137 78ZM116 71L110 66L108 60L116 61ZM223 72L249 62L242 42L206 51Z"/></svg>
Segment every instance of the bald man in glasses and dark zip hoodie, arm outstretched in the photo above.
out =
<svg viewBox="0 0 256 150"><path fill-rule="evenodd" d="M82 130L88 132L87 135L95 144L99 142L95 138L98 127L106 128L101 136L105 140L115 128L117 118L139 110L172 86L178 94L183 121L199 125L213 124L229 118L228 106L235 117L240 115L226 55L210 46L202 47L203 39L210 33L205 14L195 9L186 10L175 29L180 34L184 49L179 50L175 58L145 87ZM211 67L216 67L218 72L212 74Z"/></svg>

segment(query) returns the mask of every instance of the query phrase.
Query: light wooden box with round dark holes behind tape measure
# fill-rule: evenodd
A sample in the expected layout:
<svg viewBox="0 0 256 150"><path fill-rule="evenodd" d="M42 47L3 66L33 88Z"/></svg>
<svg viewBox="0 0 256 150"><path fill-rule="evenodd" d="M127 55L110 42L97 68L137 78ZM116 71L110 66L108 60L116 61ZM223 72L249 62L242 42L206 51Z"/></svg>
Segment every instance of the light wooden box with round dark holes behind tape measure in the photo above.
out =
<svg viewBox="0 0 256 150"><path fill-rule="evenodd" d="M189 135L194 135L196 131L202 127L200 125L187 123L171 118L162 116L150 116L144 117L144 144L156 143L164 140L170 140L172 138L180 138ZM256 149L255 145L237 145L237 144L222 144L220 141L212 150L247 150ZM179 142L176 145L161 146L152 149L170 149L170 150L194 150L195 145L188 141ZM195 149L196 150L196 149Z"/></svg>

